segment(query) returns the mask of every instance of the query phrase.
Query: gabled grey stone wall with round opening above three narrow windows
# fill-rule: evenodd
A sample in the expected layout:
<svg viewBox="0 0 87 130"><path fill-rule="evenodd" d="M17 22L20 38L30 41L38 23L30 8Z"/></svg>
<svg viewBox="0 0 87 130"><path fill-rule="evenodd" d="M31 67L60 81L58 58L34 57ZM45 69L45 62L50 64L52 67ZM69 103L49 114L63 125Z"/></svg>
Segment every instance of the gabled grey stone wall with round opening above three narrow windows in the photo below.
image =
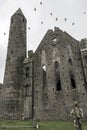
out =
<svg viewBox="0 0 87 130"><path fill-rule="evenodd" d="M79 42L57 28L49 30L34 55L35 118L70 119L74 100L86 104L84 78Z"/></svg>

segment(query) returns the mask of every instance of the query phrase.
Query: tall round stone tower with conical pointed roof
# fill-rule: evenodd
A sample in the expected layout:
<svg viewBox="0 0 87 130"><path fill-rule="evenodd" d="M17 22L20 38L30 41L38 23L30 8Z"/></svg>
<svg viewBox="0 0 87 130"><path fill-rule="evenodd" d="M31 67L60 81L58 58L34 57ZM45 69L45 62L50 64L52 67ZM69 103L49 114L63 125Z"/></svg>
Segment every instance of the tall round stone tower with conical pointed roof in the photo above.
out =
<svg viewBox="0 0 87 130"><path fill-rule="evenodd" d="M26 18L19 8L11 17L4 75L4 117L20 118L23 112L23 61L26 58ZM21 109L20 109L21 108Z"/></svg>

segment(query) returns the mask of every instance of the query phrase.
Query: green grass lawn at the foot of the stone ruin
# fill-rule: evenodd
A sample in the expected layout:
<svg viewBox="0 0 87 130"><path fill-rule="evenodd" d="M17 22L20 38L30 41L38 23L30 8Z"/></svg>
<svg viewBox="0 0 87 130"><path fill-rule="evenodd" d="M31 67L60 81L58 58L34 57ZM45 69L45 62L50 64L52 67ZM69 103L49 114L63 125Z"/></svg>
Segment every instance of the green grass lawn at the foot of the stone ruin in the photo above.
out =
<svg viewBox="0 0 87 130"><path fill-rule="evenodd" d="M69 121L41 121L39 130L74 130L73 122ZM83 130L87 130L87 121L82 123ZM0 121L1 126L32 126L31 121ZM0 128L0 130L35 130L35 128Z"/></svg>

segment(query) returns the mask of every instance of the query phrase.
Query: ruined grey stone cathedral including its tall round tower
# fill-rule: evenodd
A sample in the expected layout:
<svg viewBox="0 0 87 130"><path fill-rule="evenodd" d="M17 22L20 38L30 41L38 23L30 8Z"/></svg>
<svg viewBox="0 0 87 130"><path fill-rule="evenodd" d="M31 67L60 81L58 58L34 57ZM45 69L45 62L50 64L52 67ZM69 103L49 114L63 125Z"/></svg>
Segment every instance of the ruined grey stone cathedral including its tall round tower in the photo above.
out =
<svg viewBox="0 0 87 130"><path fill-rule="evenodd" d="M26 23L21 9L11 17L0 118L68 120L78 101L87 119L87 40L55 27L27 57Z"/></svg>

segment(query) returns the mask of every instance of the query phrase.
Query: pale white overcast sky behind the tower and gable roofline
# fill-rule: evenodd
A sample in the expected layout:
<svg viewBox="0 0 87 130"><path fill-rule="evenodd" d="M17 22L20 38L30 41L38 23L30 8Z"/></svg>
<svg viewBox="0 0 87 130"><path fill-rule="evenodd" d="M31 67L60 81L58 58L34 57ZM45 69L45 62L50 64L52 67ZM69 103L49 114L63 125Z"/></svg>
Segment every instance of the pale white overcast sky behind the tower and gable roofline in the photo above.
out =
<svg viewBox="0 0 87 130"><path fill-rule="evenodd" d="M0 0L1 83L5 69L10 17L18 8L22 9L27 19L28 50L35 51L47 30L53 29L55 26L66 31L77 40L87 38L87 0ZM56 17L58 18L57 21ZM67 21L64 20L65 18ZM73 22L75 23L74 26L72 25ZM31 30L28 30L28 27Z"/></svg>

